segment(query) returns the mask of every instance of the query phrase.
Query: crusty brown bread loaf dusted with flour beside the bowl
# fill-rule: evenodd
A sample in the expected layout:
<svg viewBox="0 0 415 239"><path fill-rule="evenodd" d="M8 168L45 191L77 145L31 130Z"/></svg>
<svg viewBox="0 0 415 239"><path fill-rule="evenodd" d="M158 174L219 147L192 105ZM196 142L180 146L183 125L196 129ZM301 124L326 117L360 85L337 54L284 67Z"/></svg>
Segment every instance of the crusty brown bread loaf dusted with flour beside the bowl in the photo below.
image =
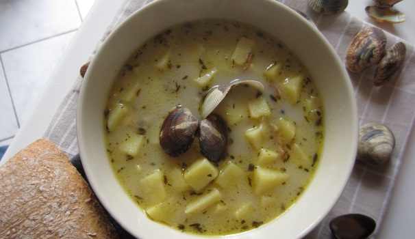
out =
<svg viewBox="0 0 415 239"><path fill-rule="evenodd" d="M51 141L0 167L0 238L118 238L94 193Z"/></svg>

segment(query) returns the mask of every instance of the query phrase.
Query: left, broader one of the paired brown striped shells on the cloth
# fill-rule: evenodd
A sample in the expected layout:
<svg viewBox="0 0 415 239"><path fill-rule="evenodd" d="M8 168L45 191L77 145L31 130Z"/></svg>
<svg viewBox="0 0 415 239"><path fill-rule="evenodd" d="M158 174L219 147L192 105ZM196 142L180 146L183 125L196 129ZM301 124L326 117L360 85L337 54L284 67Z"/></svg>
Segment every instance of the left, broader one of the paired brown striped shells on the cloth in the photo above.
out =
<svg viewBox="0 0 415 239"><path fill-rule="evenodd" d="M385 54L386 35L377 27L366 27L356 34L347 48L346 66L352 72L378 64Z"/></svg>

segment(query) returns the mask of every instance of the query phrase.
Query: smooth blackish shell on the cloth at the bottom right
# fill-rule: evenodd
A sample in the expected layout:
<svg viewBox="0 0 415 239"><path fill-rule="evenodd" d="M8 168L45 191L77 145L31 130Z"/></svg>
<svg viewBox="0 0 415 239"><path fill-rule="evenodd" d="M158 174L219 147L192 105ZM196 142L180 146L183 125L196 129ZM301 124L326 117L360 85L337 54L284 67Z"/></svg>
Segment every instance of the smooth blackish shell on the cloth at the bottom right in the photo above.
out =
<svg viewBox="0 0 415 239"><path fill-rule="evenodd" d="M363 214L344 214L330 221L331 234L337 239L364 239L375 231L376 222Z"/></svg>

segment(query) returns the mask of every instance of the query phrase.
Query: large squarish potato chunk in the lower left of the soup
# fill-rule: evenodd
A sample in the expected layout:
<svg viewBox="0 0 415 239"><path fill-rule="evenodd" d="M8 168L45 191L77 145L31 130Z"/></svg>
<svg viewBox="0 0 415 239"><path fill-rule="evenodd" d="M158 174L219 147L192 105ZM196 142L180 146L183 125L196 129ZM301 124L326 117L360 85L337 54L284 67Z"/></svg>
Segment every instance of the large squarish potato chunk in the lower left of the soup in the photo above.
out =
<svg viewBox="0 0 415 239"><path fill-rule="evenodd" d="M160 170L138 181L138 188L140 188L140 197L146 199L151 205L158 204L166 199L164 174Z"/></svg>

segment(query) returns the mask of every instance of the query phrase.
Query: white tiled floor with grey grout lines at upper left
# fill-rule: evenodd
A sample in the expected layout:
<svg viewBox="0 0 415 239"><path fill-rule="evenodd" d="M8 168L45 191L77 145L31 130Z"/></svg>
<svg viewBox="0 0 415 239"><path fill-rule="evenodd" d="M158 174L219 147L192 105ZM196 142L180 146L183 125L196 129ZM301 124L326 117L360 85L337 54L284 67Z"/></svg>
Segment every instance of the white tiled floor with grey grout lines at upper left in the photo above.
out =
<svg viewBox="0 0 415 239"><path fill-rule="evenodd" d="M11 143L95 0L0 0L0 146Z"/></svg>

